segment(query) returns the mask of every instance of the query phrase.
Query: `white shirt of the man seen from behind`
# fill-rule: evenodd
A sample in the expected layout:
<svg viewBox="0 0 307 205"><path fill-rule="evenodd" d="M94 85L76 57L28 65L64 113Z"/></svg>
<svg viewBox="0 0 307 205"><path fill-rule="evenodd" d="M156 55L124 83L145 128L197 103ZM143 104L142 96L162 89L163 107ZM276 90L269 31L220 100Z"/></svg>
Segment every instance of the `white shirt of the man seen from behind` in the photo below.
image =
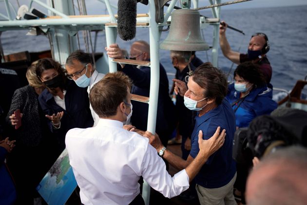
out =
<svg viewBox="0 0 307 205"><path fill-rule="evenodd" d="M96 127L67 132L66 149L83 204L128 205L140 192L140 176L168 198L188 189L185 169L172 178L149 140L122 127L122 122L100 119Z"/></svg>

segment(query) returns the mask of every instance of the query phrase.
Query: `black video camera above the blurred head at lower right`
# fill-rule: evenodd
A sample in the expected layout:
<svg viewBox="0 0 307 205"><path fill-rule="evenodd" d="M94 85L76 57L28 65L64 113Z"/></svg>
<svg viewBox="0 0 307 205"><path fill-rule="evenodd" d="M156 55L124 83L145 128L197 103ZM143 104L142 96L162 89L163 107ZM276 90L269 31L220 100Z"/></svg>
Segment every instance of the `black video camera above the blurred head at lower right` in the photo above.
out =
<svg viewBox="0 0 307 205"><path fill-rule="evenodd" d="M237 163L249 163L276 149L299 144L307 147L307 112L287 108L271 115L256 117L249 127L236 130L232 157Z"/></svg>

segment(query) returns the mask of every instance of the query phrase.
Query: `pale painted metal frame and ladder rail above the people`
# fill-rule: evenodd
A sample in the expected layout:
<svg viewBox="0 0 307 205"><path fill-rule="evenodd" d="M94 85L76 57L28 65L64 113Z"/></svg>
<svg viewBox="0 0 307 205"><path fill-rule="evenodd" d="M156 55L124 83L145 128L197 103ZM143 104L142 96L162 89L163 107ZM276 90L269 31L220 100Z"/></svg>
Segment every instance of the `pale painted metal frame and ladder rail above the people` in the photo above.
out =
<svg viewBox="0 0 307 205"><path fill-rule="evenodd" d="M58 4L60 4L61 0L55 0ZM106 4L107 10L109 12L109 16L104 17L81 17L81 18L69 18L66 14L69 13L67 9L62 9L60 12L58 9L54 9L48 6L45 3L42 3L39 0L31 0L30 7L32 6L32 2L36 2L39 5L47 8L50 11L50 15L52 13L61 16L61 19L41 19L41 20L13 20L10 11L10 5L8 0L4 0L6 11L7 11L7 18L8 21L0 21L0 31L6 30L19 30L19 29L28 29L33 26L39 26L40 28L47 30L51 29L51 32L61 33L61 35L66 35L63 37L63 41L70 41L70 37L67 37L69 33L66 33L66 30L82 30L82 29L91 29L96 28L95 26L102 26L106 23L116 22L115 16L112 11L112 6L109 0L99 0ZM137 18L137 23L144 23L149 22L149 35L150 35L150 52L151 52L151 78L154 79L151 81L150 84L150 101L149 101L149 113L148 113L148 124L147 130L152 133L155 133L155 126L156 126L156 113L157 113L157 102L158 102L158 90L159 90L159 44L160 44L160 33L159 27L164 26L167 24L167 21L173 11L173 7L176 4L177 0L172 0L170 6L164 16L165 21L163 23L156 23L155 22L155 6L154 0L149 0L149 17L140 17ZM198 0L192 0L194 8L198 6ZM209 0L211 4L220 3L221 0ZM215 7L212 8L212 14L214 18L220 17L220 8ZM16 13L16 12L15 12ZM66 14L64 14L66 13ZM1 14L2 17L5 17ZM219 25L218 23L214 24L214 33L213 33L213 48L212 48L212 63L213 65L217 66L217 52L218 52L218 32L219 32ZM204 27L204 26L202 26ZM56 30L57 29L57 30ZM61 30L61 31L60 31ZM106 31L106 41L107 46L116 41L116 27L112 26L105 26ZM56 40L55 40L56 41ZM54 49L54 51L59 50L58 55L54 54L56 60L63 63L63 60L69 55L69 52L74 49L74 46L70 47L69 49L64 48L67 45L63 45ZM115 62L112 62L112 59L109 58L109 71L116 72L117 66ZM149 205L150 199L150 186L148 183L144 182L143 184L143 198L145 200L145 204Z"/></svg>

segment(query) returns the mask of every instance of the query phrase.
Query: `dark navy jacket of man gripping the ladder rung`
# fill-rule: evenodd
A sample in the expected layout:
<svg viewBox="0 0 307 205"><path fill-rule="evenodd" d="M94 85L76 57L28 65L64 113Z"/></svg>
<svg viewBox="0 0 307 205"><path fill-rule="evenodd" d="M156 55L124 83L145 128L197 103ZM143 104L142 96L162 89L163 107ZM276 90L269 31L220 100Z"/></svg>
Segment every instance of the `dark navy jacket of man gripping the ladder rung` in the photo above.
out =
<svg viewBox="0 0 307 205"><path fill-rule="evenodd" d="M121 71L129 76L133 81L134 86L132 87L131 93L149 97L151 80L150 67L142 66L138 69L136 66L126 64ZM132 124L138 129L147 130L148 104L136 101L133 101L132 104ZM172 123L175 122L173 115L174 104L169 96L169 81L164 67L160 64L160 82L156 119L156 133L159 136L172 133L173 130L170 131L170 129L174 128ZM167 140L168 139L166 138L165 141L167 142Z"/></svg>

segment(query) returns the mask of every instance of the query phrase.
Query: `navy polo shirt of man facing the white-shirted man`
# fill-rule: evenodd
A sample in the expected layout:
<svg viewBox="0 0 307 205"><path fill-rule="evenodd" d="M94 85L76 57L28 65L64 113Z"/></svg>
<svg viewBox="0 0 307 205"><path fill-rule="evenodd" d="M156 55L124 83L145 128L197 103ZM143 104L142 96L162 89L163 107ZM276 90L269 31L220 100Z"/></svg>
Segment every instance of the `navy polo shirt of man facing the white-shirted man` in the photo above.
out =
<svg viewBox="0 0 307 205"><path fill-rule="evenodd" d="M215 133L218 126L226 129L226 138L223 146L213 153L206 164L203 165L197 176L196 184L206 188L222 187L230 182L236 172L236 165L232 159L232 142L236 129L235 116L230 103L224 99L216 108L205 115L195 118L195 126L192 133L192 147L190 155L195 158L199 152L198 132L203 131L203 139L209 139Z"/></svg>

